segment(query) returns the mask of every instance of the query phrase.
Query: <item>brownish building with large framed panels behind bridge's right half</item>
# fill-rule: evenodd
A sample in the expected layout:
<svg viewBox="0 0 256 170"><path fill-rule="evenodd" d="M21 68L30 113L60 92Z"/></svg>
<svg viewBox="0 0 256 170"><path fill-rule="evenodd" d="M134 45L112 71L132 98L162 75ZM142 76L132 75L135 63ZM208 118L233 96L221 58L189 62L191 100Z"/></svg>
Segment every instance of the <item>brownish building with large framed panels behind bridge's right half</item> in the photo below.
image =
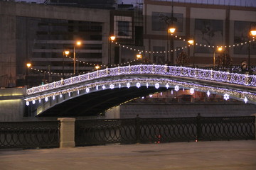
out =
<svg viewBox="0 0 256 170"><path fill-rule="evenodd" d="M144 0L143 15L145 55L151 62L168 59L176 64L178 55L186 52L191 64L213 66L214 53L215 60L219 55L217 46L223 46L233 64L249 62L248 41L250 28L256 27L255 7ZM176 27L173 35L167 31L171 23ZM188 47L191 38L196 45ZM252 41L250 65L255 64L256 42Z"/></svg>

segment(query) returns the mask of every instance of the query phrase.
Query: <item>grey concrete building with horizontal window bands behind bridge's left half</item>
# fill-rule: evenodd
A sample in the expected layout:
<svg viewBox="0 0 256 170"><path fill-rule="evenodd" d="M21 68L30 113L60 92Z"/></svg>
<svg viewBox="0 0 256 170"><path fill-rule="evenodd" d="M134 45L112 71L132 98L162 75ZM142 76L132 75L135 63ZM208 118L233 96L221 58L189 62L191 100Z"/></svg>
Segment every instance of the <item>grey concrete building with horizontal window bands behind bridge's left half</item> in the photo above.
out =
<svg viewBox="0 0 256 170"><path fill-rule="evenodd" d="M0 8L0 86L4 87L38 86L71 77L74 53L75 74L90 72L95 65L134 60L134 52L125 52L119 43L143 42L142 17L138 23L134 11L12 1L0 1ZM110 35L116 36L112 43ZM135 35L141 35L140 39ZM75 45L77 40L82 45Z"/></svg>

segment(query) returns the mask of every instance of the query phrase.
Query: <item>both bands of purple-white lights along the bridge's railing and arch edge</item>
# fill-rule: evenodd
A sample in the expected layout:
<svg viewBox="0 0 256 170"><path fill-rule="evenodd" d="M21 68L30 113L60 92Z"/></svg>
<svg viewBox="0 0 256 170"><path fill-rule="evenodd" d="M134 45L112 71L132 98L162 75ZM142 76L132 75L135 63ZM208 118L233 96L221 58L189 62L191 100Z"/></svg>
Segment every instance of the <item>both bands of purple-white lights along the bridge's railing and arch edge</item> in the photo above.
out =
<svg viewBox="0 0 256 170"><path fill-rule="evenodd" d="M31 97L26 98L26 101L35 101L35 100L41 100L41 98L46 98L50 96L58 96L67 94L73 91L79 91L83 89L87 89L87 93L90 92L90 89L92 87L95 87L96 89L99 89L99 86L102 86L102 89L107 89L107 86L109 86L110 89L114 89L116 85L118 84L119 88L122 86L125 86L129 88L130 86L152 86L154 84L156 89L159 89L160 86L166 87L168 89L170 87L169 84L173 84L174 89L179 88L179 86L183 86L183 89L191 89L191 92L193 92L193 89L198 89L198 86L201 86L200 91L207 91L208 96L210 96L210 91L215 91L219 94L228 94L230 96L235 96L236 98L243 98L245 103L247 101L256 101L256 94L252 94L250 92L246 91L235 91L231 89L221 89L221 88L214 88L207 86L207 88L202 88L202 85L198 84L188 84L186 82L181 81L173 81L170 79L146 79L146 81L143 81L142 79L122 79L116 81L100 81L96 82L95 84L86 84L78 87L73 87L70 89L65 89L57 92L52 92L50 94L41 94L34 96L33 94L38 93L45 93L49 90L58 89L63 86L69 86L73 84L78 84L81 82L91 81L93 79L99 79L101 77L113 77L113 76L119 76L119 75L132 75L132 74L155 74L157 75L164 75L164 76L175 76L175 77L191 77L196 79L206 79L211 81L220 81L220 82L229 82L231 84L242 84L244 86L255 86L256 85L256 77L250 76L247 74L232 74L228 72L218 72L213 70L203 70L203 69L193 69L188 67L172 67L172 66L166 66L166 65L134 65L129 67L117 67L112 69L104 69L97 72L92 72L89 74L83 74L78 77L72 77L70 79L65 79L62 81L56 81L51 84L46 84L43 86L37 86L33 87L31 89L27 90L28 95L32 95ZM123 84L123 85L122 85ZM144 85L142 85L144 84ZM187 84L187 85L186 85ZM107 85L107 86L106 86ZM178 87L177 87L178 86ZM138 87L138 88L139 88ZM227 96L227 95L225 95ZM225 97L227 98L227 97ZM27 103L28 104L28 103Z"/></svg>

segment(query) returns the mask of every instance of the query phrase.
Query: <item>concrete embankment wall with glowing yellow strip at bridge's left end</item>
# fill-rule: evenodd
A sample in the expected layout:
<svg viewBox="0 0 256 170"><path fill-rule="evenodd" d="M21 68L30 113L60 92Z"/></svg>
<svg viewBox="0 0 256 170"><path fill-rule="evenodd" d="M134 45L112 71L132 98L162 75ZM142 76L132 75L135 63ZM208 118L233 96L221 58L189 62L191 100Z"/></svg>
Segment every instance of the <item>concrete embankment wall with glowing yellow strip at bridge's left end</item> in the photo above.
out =
<svg viewBox="0 0 256 170"><path fill-rule="evenodd" d="M0 89L0 121L23 120L26 88Z"/></svg>

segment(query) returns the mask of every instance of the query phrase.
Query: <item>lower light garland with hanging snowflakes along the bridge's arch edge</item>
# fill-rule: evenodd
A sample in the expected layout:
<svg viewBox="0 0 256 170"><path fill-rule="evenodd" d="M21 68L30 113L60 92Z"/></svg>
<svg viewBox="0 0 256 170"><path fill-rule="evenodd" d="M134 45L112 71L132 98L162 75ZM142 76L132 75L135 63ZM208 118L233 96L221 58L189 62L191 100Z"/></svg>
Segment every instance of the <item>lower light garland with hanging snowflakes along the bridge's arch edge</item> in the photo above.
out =
<svg viewBox="0 0 256 170"><path fill-rule="evenodd" d="M138 85L139 84L139 85ZM85 90L86 94L90 93L91 91L98 91L98 90L105 90L105 89L114 89L114 88L130 88L131 86L137 86L137 88L140 88L141 86L146 86L148 84L149 86L154 86L156 89L159 89L159 87L166 88L167 84L170 84L172 87L176 88L177 86L182 86L185 89L190 89L191 94L194 93L195 89L197 91L204 91L207 93L209 91L212 91L212 93L215 94L224 94L224 99L228 100L230 96L233 96L235 98L239 98L240 100L249 101L247 98L250 98L251 101L256 101L256 94L245 92L245 91L238 91L238 90L232 90L232 89L225 89L225 88L215 88L212 86L205 86L201 84L193 84L193 83L187 83L187 82L181 82L181 81L175 81L172 79L117 79L112 81L97 81L90 84L86 84L85 86L75 86L69 89L64 89L60 91L51 92L48 94L42 94L38 96L32 96L29 98L26 98L26 105L29 105L29 102L32 101L34 104L35 101L39 101L42 98L45 98L45 101L48 101L48 98L52 97L53 100L55 99L55 96L61 96L65 94L69 94L71 92L77 91L77 95L80 95L80 91ZM99 88L100 86L100 88ZM168 88L166 88L168 89ZM210 93L210 92L209 92ZM210 96L210 95L208 95Z"/></svg>

